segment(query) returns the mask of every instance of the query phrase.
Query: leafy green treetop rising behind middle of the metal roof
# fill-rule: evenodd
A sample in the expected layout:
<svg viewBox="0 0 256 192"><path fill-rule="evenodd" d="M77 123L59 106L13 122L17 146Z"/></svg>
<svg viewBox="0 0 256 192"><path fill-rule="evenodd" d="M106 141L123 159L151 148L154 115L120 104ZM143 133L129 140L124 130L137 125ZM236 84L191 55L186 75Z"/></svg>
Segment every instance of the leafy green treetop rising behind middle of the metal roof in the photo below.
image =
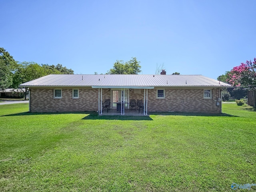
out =
<svg viewBox="0 0 256 192"><path fill-rule="evenodd" d="M140 70L140 61L136 57L124 62L123 60L116 60L112 69L107 74L138 74Z"/></svg>

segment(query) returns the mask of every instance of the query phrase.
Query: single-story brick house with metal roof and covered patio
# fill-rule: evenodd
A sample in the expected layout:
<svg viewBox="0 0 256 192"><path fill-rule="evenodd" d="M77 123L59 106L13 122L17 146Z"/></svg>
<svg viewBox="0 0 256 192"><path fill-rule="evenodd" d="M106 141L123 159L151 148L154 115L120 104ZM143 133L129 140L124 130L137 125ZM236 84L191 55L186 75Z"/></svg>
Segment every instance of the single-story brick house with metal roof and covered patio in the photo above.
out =
<svg viewBox="0 0 256 192"><path fill-rule="evenodd" d="M202 75L52 74L20 85L30 91L30 112L102 112L102 102L145 102L147 112L221 113L221 90L230 87ZM122 112L121 112L122 113Z"/></svg>

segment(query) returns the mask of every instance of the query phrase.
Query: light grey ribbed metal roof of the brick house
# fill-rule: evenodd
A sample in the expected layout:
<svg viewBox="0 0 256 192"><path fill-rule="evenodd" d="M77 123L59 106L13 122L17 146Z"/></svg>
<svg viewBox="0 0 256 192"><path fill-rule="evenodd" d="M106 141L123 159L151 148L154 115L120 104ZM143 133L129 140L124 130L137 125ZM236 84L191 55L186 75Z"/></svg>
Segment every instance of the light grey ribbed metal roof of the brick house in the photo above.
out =
<svg viewBox="0 0 256 192"><path fill-rule="evenodd" d="M202 75L126 75L126 74L51 74L23 84L21 87L154 88L154 87L230 87Z"/></svg>

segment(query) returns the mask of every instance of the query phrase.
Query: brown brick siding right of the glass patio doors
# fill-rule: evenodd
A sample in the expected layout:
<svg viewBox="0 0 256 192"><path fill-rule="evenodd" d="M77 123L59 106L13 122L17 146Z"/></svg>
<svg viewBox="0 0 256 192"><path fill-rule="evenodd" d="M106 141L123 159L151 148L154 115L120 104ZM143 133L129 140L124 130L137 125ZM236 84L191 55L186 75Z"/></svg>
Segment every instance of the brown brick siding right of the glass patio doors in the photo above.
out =
<svg viewBox="0 0 256 192"><path fill-rule="evenodd" d="M161 89L161 88L160 88ZM157 89L148 90L148 112L206 112L220 113L220 106L216 106L218 89L212 89L212 98L204 99L204 89L165 89L165 98L156 98ZM130 91L130 99L143 99L141 94Z"/></svg>

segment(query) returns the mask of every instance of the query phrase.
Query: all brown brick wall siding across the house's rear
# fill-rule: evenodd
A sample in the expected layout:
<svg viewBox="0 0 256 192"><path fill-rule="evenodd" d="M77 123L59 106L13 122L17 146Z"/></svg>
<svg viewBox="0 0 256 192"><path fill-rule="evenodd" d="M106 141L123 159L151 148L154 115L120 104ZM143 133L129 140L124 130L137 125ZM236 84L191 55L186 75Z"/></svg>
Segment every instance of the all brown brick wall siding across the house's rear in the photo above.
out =
<svg viewBox="0 0 256 192"><path fill-rule="evenodd" d="M79 98L72 99L72 88L62 88L62 98L53 98L53 88L30 89L31 112L97 111L98 89L79 88ZM212 98L204 99L204 89L165 89L165 98L156 98L156 89L148 90L148 112L206 112L220 113L216 106L218 89L212 89ZM102 89L102 101L110 99L111 91ZM140 94L130 90L130 99L144 100L144 89Z"/></svg>

